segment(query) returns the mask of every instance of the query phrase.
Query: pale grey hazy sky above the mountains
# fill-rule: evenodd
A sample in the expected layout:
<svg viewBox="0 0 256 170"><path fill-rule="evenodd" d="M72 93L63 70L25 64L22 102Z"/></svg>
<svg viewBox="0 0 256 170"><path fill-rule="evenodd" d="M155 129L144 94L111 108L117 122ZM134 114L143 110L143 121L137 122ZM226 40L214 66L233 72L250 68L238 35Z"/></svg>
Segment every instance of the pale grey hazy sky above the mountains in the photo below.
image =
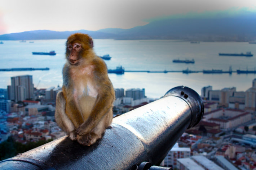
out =
<svg viewBox="0 0 256 170"><path fill-rule="evenodd" d="M38 29L132 28L152 18L256 9L256 0L0 0L0 35Z"/></svg>

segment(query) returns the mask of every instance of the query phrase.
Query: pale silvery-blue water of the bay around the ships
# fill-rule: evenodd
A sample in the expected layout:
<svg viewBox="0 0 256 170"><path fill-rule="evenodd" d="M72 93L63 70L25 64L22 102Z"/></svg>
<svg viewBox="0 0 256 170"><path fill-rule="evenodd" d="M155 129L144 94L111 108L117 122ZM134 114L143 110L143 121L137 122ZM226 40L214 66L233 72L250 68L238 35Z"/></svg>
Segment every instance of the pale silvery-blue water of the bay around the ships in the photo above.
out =
<svg viewBox="0 0 256 170"><path fill-rule="evenodd" d="M62 86L62 67L65 63L66 40L31 40L34 43L3 41L0 44L0 68L45 68L48 71L0 72L0 88L10 85L10 77L32 75L34 87ZM56 56L32 55L32 52L55 50ZM102 56L108 69L122 65L125 70L254 70L256 66L256 44L248 42L200 42L198 44L180 40L109 40L94 39L94 51ZM219 52L241 53L251 51L253 57L219 56ZM195 64L172 63L173 59L194 59ZM255 74L203 74L203 73L138 73L109 74L114 88L145 88L145 95L159 98L176 86L187 86L201 94L204 86L213 89L237 87L246 91L252 86Z"/></svg>

